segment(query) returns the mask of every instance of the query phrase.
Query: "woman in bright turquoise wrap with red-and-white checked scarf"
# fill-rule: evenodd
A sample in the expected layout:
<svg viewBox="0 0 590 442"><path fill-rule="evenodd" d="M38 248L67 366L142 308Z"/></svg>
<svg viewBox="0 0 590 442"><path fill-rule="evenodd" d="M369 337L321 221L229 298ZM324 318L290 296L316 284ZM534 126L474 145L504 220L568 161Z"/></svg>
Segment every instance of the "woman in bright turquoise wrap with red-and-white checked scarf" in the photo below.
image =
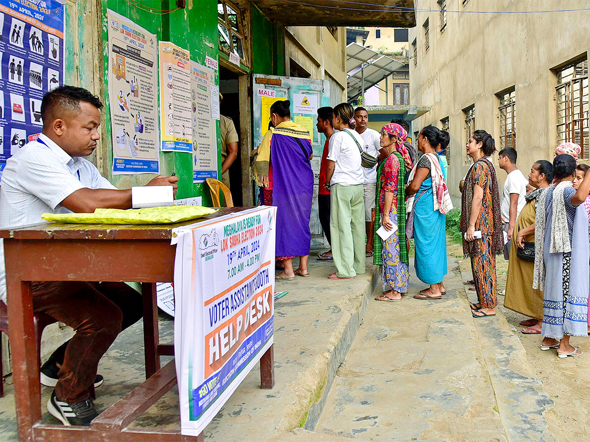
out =
<svg viewBox="0 0 590 442"><path fill-rule="evenodd" d="M410 173L408 195L408 238L414 238L414 268L420 281L430 286L414 298L440 299L447 293L442 279L447 274L447 212L453 209L444 179L442 159L436 153L439 130L427 126L418 136L424 153Z"/></svg>

